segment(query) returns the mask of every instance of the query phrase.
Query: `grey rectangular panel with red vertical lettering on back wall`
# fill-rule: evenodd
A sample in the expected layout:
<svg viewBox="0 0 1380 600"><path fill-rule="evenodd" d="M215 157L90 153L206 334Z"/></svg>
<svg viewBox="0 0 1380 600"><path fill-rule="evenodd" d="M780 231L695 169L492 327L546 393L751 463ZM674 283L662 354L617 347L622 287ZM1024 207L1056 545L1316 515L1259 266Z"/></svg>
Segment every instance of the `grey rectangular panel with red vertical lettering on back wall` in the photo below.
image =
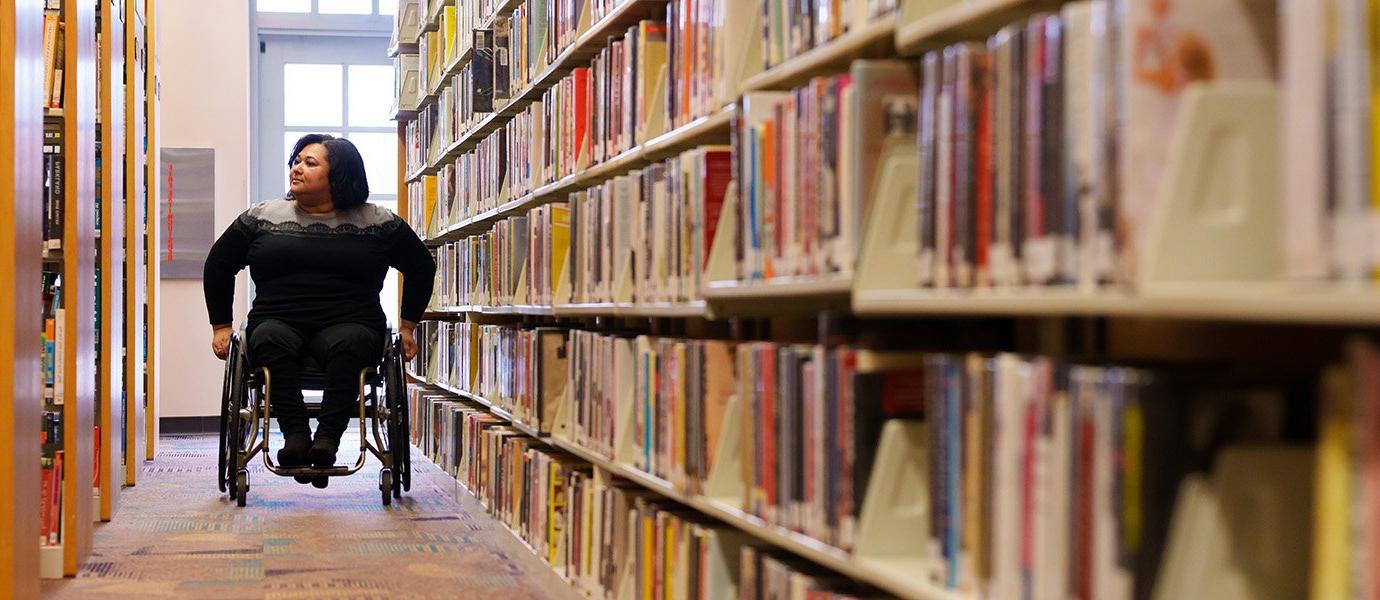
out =
<svg viewBox="0 0 1380 600"><path fill-rule="evenodd" d="M159 273L201 279L215 241L215 150L163 148L159 157Z"/></svg>

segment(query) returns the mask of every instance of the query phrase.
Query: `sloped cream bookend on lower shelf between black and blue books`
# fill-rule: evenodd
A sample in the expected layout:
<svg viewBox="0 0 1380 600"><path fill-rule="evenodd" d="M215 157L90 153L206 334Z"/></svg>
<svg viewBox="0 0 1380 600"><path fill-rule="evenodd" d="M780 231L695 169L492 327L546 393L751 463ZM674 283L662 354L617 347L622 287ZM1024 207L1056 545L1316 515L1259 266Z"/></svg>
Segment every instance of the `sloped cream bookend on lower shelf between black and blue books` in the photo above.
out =
<svg viewBox="0 0 1380 600"><path fill-rule="evenodd" d="M887 421L876 448L858 524L856 554L893 577L925 583L929 524L925 423Z"/></svg>

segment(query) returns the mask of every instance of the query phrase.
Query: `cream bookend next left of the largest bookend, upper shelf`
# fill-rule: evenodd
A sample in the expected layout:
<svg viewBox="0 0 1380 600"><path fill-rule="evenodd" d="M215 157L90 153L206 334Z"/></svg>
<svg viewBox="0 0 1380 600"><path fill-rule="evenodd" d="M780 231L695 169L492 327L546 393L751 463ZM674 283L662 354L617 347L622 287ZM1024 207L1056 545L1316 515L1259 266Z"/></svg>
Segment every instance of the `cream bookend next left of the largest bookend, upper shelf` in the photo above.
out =
<svg viewBox="0 0 1380 600"><path fill-rule="evenodd" d="M894 290L918 286L919 215L916 185L920 159L915 145L891 146L878 170L876 199L862 233L854 287Z"/></svg>

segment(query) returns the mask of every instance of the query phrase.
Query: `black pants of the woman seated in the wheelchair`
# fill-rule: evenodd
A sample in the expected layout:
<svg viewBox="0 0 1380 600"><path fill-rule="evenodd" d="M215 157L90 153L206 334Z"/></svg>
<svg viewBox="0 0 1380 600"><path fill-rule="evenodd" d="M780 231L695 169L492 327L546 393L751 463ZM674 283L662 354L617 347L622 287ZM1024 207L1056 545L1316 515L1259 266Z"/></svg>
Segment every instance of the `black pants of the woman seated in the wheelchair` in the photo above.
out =
<svg viewBox="0 0 1380 600"><path fill-rule="evenodd" d="M283 433L310 433L302 403L302 359L310 356L326 372L322 414L316 436L338 440L359 414L359 371L378 364L384 331L357 323L301 327L276 319L251 321L250 363L268 367L272 377L269 404ZM309 353L309 354L308 354Z"/></svg>

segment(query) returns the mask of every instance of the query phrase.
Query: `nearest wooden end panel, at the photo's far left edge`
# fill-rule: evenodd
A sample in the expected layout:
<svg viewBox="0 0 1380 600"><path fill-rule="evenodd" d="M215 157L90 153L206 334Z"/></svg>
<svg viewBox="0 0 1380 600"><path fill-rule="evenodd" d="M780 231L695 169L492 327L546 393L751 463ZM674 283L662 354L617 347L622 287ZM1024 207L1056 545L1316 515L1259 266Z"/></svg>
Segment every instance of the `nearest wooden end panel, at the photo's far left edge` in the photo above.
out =
<svg viewBox="0 0 1380 600"><path fill-rule="evenodd" d="M39 597L43 3L0 0L0 597Z"/></svg>

